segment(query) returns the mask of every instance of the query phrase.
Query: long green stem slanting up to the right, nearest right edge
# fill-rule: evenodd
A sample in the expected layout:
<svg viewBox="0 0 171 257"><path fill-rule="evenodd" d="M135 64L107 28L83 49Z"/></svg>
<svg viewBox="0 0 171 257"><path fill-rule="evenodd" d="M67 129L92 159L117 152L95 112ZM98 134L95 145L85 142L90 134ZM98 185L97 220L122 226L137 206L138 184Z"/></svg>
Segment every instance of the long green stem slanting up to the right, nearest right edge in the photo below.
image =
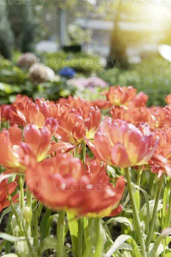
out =
<svg viewBox="0 0 171 257"><path fill-rule="evenodd" d="M160 198L160 194L161 194L161 190L162 190L164 175L165 175L165 172L163 172L163 174L160 178L160 181L159 181L159 185L158 185L155 204L154 204L154 208L153 208L153 214L152 214L150 228L149 228L149 234L147 236L147 244L146 244L147 245L147 250L149 250L149 246L150 246L150 242L151 242L151 237L152 237L154 223L155 223L155 219L156 219L157 207L158 207L158 202L159 202L159 198Z"/></svg>

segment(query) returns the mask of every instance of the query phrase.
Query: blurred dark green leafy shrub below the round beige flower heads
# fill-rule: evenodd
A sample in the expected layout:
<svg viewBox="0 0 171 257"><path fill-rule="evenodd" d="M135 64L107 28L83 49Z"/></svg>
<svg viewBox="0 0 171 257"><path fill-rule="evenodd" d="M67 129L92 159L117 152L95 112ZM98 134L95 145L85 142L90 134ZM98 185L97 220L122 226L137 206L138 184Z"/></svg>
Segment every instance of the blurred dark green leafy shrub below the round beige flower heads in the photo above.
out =
<svg viewBox="0 0 171 257"><path fill-rule="evenodd" d="M75 87L67 85L66 78L56 76L56 81L44 83L32 82L29 70L20 69L12 62L0 56L0 104L12 103L15 95L26 94L33 99L44 97L49 100L58 100L59 97L73 95Z"/></svg>

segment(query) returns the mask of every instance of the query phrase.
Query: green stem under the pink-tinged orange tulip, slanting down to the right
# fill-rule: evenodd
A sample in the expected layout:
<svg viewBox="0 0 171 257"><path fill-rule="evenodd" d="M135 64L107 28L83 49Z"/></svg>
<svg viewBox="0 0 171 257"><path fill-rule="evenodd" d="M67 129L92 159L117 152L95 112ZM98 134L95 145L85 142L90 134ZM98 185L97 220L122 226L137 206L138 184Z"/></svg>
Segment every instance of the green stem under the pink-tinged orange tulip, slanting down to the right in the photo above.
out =
<svg viewBox="0 0 171 257"><path fill-rule="evenodd" d="M146 255L145 242L144 242L144 239L143 239L143 234L141 232L140 218L139 218L138 210L137 210L134 195L133 195L131 179L130 179L128 168L125 169L125 175L126 175L126 179L127 179L130 201L131 201L131 204L132 204L134 223L135 223L135 226L136 226L136 229L137 229L138 239L139 239L139 242L140 242L141 253L142 253L143 257L146 257L147 255Z"/></svg>

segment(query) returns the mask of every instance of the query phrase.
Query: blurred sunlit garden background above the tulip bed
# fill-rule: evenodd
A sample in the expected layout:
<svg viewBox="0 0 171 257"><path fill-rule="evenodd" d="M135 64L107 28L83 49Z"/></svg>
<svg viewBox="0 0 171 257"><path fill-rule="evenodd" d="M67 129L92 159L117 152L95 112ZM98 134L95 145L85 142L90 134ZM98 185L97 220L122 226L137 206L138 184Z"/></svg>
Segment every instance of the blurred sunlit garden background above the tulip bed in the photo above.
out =
<svg viewBox="0 0 171 257"><path fill-rule="evenodd" d="M171 45L170 13L169 0L0 0L0 103L95 100L119 84L164 106L171 64L158 46Z"/></svg>

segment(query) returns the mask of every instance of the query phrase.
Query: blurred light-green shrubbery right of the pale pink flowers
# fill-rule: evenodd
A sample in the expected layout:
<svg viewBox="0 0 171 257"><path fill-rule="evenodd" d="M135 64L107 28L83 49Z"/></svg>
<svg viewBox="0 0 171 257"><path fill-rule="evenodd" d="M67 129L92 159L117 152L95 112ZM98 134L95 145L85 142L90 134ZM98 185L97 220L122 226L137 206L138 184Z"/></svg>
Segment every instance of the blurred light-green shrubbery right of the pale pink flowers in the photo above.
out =
<svg viewBox="0 0 171 257"><path fill-rule="evenodd" d="M162 57L143 60L125 71L108 69L100 77L110 85L132 85L137 92L143 91L149 96L148 106L166 105L164 96L171 93L171 64Z"/></svg>

